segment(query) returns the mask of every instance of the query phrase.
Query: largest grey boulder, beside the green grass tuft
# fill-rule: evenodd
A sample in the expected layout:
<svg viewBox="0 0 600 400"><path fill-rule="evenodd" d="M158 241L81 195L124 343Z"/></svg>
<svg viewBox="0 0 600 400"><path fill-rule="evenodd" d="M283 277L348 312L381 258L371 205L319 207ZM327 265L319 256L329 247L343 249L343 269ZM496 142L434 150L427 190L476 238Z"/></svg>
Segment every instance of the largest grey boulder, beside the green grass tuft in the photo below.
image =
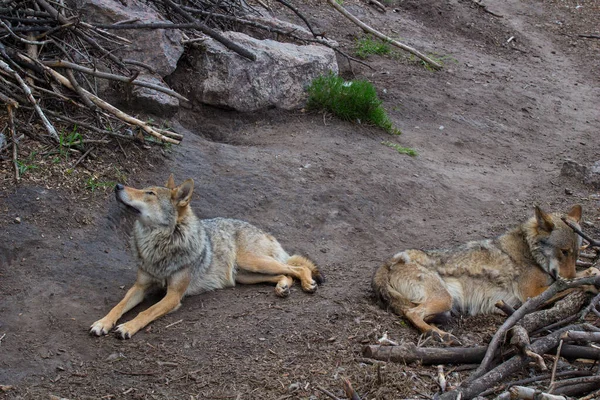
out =
<svg viewBox="0 0 600 400"><path fill-rule="evenodd" d="M250 61L213 39L191 51L189 65L171 77L187 98L238 111L302 107L306 87L319 75L338 71L333 50L258 40L239 32L224 36L256 54Z"/></svg>

